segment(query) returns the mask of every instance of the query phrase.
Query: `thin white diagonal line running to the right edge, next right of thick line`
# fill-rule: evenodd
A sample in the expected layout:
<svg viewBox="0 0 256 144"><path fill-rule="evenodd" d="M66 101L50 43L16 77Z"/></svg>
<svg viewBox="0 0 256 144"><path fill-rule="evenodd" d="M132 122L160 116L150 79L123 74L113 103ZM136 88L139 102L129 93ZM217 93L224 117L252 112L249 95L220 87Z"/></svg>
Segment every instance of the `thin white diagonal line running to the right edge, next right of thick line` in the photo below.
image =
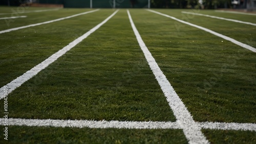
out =
<svg viewBox="0 0 256 144"><path fill-rule="evenodd" d="M219 33L217 33L217 32L211 31L211 30L209 30L208 28L205 28L205 27L202 27L202 26L199 26L199 25L196 25L196 24L192 24L192 23L189 23L189 22L180 20L180 19L178 19L178 18L169 16L169 15L166 15L166 14L163 14L163 13L160 13L160 12L157 12L157 11L153 11L153 10L147 10L147 11L150 11L150 12L153 12L153 13L156 13L156 14L159 14L159 15L162 15L162 16L165 16L165 17L168 17L168 18L177 20L177 21L179 21L179 22L181 22L181 23L185 23L185 24L190 25L190 26L193 26L193 27L197 27L197 28L199 28L199 29L201 29L201 30L203 30L203 31L205 31L205 32L208 32L208 33L210 33L210 34L213 34L213 35L215 35L215 36L218 36L218 37L220 37L220 38L223 38L223 39L225 39L225 40L227 40L227 41L230 41L230 42L232 42L232 43L234 43L234 44L237 44L237 45L239 45L239 46L241 46L241 47L243 47L243 48L246 48L246 49L248 49L248 50L250 50L250 51L256 52L256 48L254 48L254 47L252 47L252 46L249 46L249 45L247 45L247 44L241 43L241 42L239 42L239 41L237 41L237 40L235 40L235 39L232 39L232 38L230 38L230 37L227 37L227 36L224 36L224 35L222 35L222 34L219 34Z"/></svg>

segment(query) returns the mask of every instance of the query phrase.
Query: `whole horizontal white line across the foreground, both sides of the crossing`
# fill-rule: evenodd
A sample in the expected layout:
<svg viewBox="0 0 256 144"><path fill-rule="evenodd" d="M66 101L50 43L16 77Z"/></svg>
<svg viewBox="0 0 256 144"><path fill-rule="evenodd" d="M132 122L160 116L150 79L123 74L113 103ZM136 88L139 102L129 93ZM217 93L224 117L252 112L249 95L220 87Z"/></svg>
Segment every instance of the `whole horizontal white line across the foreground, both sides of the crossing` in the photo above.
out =
<svg viewBox="0 0 256 144"><path fill-rule="evenodd" d="M4 125L5 119L0 119ZM241 130L256 132L256 124L251 123L219 123L197 122L202 129ZM117 128L117 129L182 129L177 122L138 122L138 121L93 121L93 120L52 120L52 119L8 119L9 126L29 127L74 127L74 128Z"/></svg>

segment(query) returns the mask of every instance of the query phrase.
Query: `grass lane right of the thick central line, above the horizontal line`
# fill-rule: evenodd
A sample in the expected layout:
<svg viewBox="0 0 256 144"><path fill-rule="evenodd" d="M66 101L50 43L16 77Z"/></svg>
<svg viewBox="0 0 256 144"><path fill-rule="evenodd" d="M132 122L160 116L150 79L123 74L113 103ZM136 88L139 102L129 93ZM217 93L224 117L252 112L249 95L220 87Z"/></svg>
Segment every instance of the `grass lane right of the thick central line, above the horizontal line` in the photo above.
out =
<svg viewBox="0 0 256 144"><path fill-rule="evenodd" d="M185 24L179 23L182 28L177 30L176 21L167 17L131 13L148 49L196 121L255 123L254 52Z"/></svg>

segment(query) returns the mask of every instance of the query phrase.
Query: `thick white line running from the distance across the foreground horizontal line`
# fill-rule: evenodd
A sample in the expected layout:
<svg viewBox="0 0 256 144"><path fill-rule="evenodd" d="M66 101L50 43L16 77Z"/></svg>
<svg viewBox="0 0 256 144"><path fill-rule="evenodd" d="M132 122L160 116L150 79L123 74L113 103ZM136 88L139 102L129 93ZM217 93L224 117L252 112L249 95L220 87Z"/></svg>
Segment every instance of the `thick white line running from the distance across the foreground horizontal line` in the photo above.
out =
<svg viewBox="0 0 256 144"><path fill-rule="evenodd" d="M201 127L199 127L199 125L193 120L191 114L189 113L189 111L187 110L187 108L185 107L185 105L175 92L174 88L172 87L172 85L170 85L169 81L159 68L151 52L147 49L133 22L129 10L127 10L127 14L129 16L137 41L145 55L146 61L150 66L152 72L154 73L170 108L172 108L174 112L174 115L177 119L177 123L183 129L183 132L187 140L189 141L189 143L209 143L206 137L201 132Z"/></svg>

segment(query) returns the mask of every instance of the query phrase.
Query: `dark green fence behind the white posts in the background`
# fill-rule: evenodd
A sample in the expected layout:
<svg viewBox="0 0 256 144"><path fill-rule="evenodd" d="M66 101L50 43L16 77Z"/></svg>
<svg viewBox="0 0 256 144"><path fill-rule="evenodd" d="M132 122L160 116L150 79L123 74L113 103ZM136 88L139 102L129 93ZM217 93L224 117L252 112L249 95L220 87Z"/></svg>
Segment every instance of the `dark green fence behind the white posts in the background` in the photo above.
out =
<svg viewBox="0 0 256 144"><path fill-rule="evenodd" d="M38 0L37 3L62 4L65 8L148 8L148 0Z"/></svg>

